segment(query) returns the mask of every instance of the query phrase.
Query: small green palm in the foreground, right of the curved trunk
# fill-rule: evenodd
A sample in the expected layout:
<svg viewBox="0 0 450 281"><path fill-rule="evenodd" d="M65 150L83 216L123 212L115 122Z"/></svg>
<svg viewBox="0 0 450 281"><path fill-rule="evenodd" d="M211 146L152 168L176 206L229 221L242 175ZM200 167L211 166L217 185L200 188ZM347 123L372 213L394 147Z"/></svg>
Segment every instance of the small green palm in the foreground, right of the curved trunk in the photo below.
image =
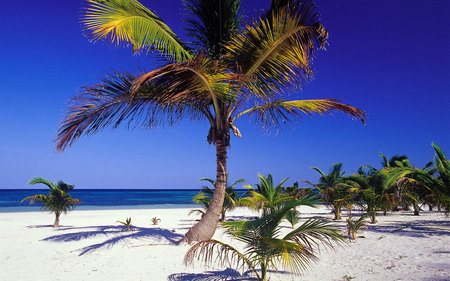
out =
<svg viewBox="0 0 450 281"><path fill-rule="evenodd" d="M234 265L250 269L258 280L266 280L270 267L278 271L278 265L289 268L294 274L301 273L311 261L317 260L319 245L332 248L332 242L344 239L334 226L320 219L309 219L281 235L279 225L286 212L299 205L309 205L310 200L285 202L281 209L260 219L222 223L228 235L244 243L244 251L217 240L202 241L186 253L185 264L201 260L207 265L217 262Z"/></svg>

